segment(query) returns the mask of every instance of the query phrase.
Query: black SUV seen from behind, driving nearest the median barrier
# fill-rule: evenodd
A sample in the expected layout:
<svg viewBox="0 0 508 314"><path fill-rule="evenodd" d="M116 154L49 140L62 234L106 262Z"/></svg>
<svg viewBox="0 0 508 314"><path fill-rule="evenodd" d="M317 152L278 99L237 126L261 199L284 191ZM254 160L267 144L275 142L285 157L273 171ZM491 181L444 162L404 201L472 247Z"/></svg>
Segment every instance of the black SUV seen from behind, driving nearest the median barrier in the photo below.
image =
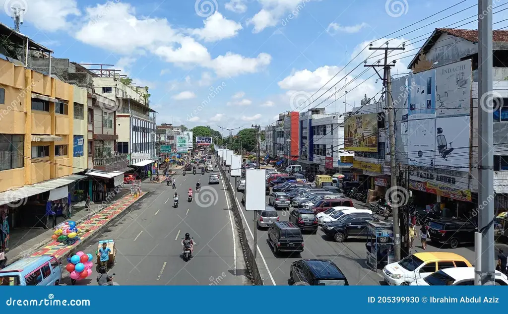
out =
<svg viewBox="0 0 508 314"><path fill-rule="evenodd" d="M290 222L276 222L268 229L268 241L273 253L303 252L303 236L300 228Z"/></svg>

